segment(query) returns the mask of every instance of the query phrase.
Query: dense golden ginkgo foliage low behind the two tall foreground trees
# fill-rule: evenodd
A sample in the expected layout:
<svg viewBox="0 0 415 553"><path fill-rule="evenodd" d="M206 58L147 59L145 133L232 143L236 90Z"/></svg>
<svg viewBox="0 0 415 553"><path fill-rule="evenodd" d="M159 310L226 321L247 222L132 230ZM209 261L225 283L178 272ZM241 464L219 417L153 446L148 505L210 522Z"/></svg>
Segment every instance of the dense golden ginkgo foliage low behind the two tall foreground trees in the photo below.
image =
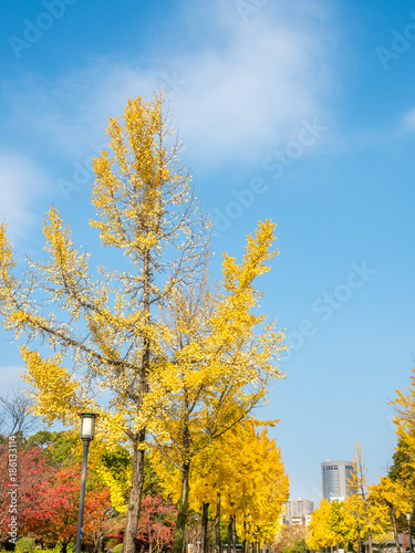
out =
<svg viewBox="0 0 415 553"><path fill-rule="evenodd" d="M236 533L243 541L271 543L289 497L289 479L280 448L267 426L251 417L242 420L194 456L189 470L188 505L201 511L201 545L206 552L208 507L216 507L216 550L220 551L220 515L228 521L228 543L236 547ZM264 426L261 430L258 427ZM154 455L166 493L181 495L180 471L159 453Z"/></svg>

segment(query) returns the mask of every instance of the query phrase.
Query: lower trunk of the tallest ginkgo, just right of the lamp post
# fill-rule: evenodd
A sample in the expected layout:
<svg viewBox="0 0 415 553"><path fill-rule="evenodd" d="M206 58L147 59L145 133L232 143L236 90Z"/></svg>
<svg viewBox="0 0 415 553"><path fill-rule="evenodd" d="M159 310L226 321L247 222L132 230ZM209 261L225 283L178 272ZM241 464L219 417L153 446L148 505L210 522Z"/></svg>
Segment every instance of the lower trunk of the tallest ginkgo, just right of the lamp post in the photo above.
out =
<svg viewBox="0 0 415 553"><path fill-rule="evenodd" d="M133 474L125 520L123 553L138 552L137 529L144 478L144 450L138 449L138 445L139 442L143 442L144 439L145 430L141 430L134 444L133 450Z"/></svg>

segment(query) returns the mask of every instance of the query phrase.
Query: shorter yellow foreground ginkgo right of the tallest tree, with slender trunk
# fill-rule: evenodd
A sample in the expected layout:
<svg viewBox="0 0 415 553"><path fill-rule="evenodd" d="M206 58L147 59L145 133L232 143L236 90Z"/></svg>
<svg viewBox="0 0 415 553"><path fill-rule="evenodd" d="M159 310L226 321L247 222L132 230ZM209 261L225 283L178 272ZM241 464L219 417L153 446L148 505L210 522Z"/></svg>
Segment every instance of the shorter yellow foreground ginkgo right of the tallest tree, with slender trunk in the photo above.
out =
<svg viewBox="0 0 415 553"><path fill-rule="evenodd" d="M170 333L149 379L153 397L164 404L157 404L162 416L148 428L153 447L181 472L176 553L184 546L193 459L252 411L270 377L284 376L276 365L286 348L283 332L255 312L261 296L255 279L270 270L274 228L259 222L240 265L224 255L224 281L215 294L206 286L196 293L181 289L169 302Z"/></svg>

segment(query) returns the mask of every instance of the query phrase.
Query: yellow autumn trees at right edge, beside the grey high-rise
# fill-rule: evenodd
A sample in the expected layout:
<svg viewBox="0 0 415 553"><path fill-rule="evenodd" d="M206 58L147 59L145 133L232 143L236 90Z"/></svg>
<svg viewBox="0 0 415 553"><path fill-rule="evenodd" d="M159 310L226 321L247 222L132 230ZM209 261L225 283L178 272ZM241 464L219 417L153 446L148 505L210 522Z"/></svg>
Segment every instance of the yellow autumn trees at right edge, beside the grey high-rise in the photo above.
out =
<svg viewBox="0 0 415 553"><path fill-rule="evenodd" d="M396 390L394 424L397 445L387 474L371 486L362 446L356 445L350 494L343 502L321 501L311 517L307 543L311 550L353 547L361 553L394 542L397 553L408 544L408 524L414 535L415 511L415 371L411 386ZM401 538L400 538L401 536Z"/></svg>

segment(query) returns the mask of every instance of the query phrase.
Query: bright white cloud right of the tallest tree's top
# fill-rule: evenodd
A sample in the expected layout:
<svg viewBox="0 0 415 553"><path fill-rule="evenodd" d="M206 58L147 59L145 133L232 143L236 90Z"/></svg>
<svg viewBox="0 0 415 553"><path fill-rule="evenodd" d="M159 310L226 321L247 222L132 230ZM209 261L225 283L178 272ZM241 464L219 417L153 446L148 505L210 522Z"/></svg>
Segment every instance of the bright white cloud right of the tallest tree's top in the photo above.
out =
<svg viewBox="0 0 415 553"><path fill-rule="evenodd" d="M321 112L305 35L267 21L230 32L224 51L205 51L179 70L187 84L175 97L177 121L191 158L205 164L252 161Z"/></svg>

